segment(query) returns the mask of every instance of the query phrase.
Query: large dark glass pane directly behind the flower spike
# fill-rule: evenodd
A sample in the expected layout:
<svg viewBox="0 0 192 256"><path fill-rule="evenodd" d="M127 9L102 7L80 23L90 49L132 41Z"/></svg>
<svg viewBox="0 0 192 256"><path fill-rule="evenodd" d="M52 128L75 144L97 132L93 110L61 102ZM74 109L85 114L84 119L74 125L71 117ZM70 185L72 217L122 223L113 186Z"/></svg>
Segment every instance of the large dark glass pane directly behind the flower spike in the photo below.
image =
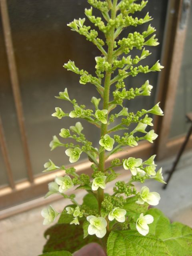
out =
<svg viewBox="0 0 192 256"><path fill-rule="evenodd" d="M150 15L154 17L151 24L157 29L160 43L163 37L166 4L166 0L154 0L147 7ZM62 120L52 118L51 114L56 106L61 107L65 112L72 110L68 102L55 99L54 96L67 87L70 98L76 98L77 102L85 104L86 108L92 108L91 97L98 96L94 86L80 85L78 75L62 67L70 59L74 60L80 69L94 74L94 58L100 55L100 52L83 36L72 32L66 26L74 18L83 18L84 8L88 6L85 0L8 0L34 174L39 174L43 170L42 164L47 162L48 158L57 165L68 163L68 157L62 148L50 152L48 145L52 135L58 135L61 128L68 128L79 121L70 118ZM143 17L146 12L147 10L143 10L140 15ZM147 26L148 24L129 28L131 30L129 32L143 31ZM128 30L124 30L123 36L127 34ZM160 58L161 44L150 50L152 56L146 61L152 66ZM136 52L132 54L134 56ZM130 111L137 111L143 107L149 109L153 106L157 76L158 74L154 72L127 79L128 87L138 87L147 79L154 86L153 96L150 99L140 97L137 103L134 101L134 105L131 101L127 102ZM93 141L93 146L98 146L96 144L100 136L98 129L84 122L82 125L87 139ZM84 157L82 154L81 159Z"/></svg>

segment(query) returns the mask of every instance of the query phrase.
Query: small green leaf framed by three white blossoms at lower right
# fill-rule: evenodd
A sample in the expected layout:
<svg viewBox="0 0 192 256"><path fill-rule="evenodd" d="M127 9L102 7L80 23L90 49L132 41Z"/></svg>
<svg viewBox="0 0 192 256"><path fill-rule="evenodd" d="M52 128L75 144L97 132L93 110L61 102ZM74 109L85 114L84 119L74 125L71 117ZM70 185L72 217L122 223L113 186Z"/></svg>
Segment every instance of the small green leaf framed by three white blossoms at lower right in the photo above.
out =
<svg viewBox="0 0 192 256"><path fill-rule="evenodd" d="M126 199L126 203L123 206L123 208L127 211L126 216L134 217L134 220L137 220L142 212L145 215L145 212L147 211L149 206L147 203L137 204L136 200L137 196L129 197Z"/></svg>

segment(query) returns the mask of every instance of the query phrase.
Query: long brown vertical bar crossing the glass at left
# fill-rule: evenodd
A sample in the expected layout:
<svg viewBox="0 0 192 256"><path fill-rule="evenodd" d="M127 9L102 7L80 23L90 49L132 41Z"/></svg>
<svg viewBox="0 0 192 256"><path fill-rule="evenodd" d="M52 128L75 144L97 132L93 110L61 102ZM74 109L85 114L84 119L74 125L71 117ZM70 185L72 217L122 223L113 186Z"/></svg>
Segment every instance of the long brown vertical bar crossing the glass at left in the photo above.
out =
<svg viewBox="0 0 192 256"><path fill-rule="evenodd" d="M10 28L6 0L0 0L0 8L1 8L1 15L2 15L4 40L5 40L5 45L6 45L7 57L8 57L10 79L11 79L14 101L15 101L15 106L16 106L16 113L17 113L17 117L18 117L18 124L19 124L19 128L20 128L21 139L22 139L22 146L24 148L24 156L25 156L26 165L27 165L28 178L29 178L30 182L33 182L34 178L33 178L33 173L32 173L27 137L26 137L26 130L25 130L25 125L24 125L22 101L21 101L21 96L20 96L18 74L17 74L16 61L15 61L15 56L14 56L14 48L13 48L13 43L12 43L11 28Z"/></svg>

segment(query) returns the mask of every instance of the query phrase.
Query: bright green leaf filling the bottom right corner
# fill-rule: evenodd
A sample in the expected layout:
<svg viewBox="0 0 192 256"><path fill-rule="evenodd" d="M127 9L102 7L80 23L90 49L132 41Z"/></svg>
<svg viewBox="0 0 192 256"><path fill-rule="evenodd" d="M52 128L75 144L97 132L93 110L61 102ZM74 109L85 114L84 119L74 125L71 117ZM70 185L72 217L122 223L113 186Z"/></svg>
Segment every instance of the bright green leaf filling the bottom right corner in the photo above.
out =
<svg viewBox="0 0 192 256"><path fill-rule="evenodd" d="M179 222L170 224L169 219L156 208L151 208L146 214L154 217L150 234L162 239L174 256L192 255L192 228Z"/></svg>

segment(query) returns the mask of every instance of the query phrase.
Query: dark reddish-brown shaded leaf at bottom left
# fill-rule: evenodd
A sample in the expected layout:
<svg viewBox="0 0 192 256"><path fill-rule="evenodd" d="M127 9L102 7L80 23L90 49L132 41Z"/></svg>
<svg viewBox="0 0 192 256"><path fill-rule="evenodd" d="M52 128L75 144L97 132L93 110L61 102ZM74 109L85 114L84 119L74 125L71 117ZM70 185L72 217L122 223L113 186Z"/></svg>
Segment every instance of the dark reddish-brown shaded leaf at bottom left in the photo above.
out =
<svg viewBox="0 0 192 256"><path fill-rule="evenodd" d="M56 224L46 230L47 240L43 252L57 252L67 250L71 253L79 250L91 242L99 242L96 236L83 239L82 222L80 225Z"/></svg>

